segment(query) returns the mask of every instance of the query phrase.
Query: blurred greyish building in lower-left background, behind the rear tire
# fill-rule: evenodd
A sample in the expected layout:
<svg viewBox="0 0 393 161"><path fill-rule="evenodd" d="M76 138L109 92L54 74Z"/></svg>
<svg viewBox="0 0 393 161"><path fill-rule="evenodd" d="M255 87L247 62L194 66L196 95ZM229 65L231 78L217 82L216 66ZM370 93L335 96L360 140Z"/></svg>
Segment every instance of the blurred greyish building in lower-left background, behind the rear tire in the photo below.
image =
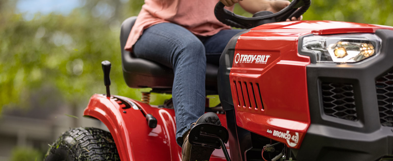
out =
<svg viewBox="0 0 393 161"><path fill-rule="evenodd" d="M72 113L72 109L66 105L47 107L50 108L31 107L27 110L3 111L0 118L0 161L9 161L11 157L12 160L18 161L35 161L35 158L40 160L49 148L48 144L71 127L96 127L107 130L100 121L83 118L83 108L77 108L75 112L79 115L78 118L74 118L64 115Z"/></svg>

